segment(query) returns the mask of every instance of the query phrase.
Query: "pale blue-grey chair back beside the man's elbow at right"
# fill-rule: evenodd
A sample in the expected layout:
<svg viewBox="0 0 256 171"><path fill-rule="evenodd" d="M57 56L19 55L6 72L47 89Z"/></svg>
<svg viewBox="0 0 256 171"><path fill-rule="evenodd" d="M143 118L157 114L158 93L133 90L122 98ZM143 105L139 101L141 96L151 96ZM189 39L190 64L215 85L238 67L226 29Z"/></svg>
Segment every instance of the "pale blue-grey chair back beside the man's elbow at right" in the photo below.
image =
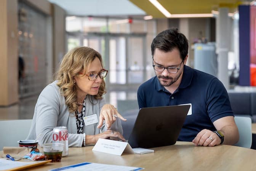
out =
<svg viewBox="0 0 256 171"><path fill-rule="evenodd" d="M239 140L234 145L250 149L252 143L251 118L235 116L235 123L239 131Z"/></svg>

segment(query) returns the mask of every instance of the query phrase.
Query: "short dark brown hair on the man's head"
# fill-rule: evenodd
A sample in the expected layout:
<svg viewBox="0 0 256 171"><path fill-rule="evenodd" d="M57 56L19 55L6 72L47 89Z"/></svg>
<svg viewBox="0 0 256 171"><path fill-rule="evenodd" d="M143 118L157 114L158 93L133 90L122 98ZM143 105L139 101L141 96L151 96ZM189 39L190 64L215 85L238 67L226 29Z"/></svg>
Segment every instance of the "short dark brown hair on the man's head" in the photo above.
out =
<svg viewBox="0 0 256 171"><path fill-rule="evenodd" d="M182 60L187 56L189 42L184 34L179 33L177 28L171 28L160 32L151 43L151 53L154 55L155 49L169 52L173 48L178 48Z"/></svg>

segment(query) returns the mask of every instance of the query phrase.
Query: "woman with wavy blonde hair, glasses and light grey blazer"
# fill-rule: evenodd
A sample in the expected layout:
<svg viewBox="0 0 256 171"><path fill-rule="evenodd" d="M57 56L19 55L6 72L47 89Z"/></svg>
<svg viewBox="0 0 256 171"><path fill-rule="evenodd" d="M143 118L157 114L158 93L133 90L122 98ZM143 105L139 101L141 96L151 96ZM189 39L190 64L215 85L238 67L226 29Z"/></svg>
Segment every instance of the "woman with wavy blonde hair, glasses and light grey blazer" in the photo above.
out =
<svg viewBox="0 0 256 171"><path fill-rule="evenodd" d="M66 126L70 147L95 144L99 138L124 141L120 119L125 119L102 98L107 72L97 51L88 47L69 51L62 59L56 81L38 97L27 139L42 134L42 145L52 141L54 127Z"/></svg>

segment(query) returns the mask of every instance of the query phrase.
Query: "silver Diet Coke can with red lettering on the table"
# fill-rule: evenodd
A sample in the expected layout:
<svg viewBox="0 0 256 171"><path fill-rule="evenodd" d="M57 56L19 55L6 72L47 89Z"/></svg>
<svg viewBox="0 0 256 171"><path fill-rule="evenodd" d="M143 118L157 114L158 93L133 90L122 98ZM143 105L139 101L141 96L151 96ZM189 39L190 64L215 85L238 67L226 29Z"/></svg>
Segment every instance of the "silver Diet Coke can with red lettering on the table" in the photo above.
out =
<svg viewBox="0 0 256 171"><path fill-rule="evenodd" d="M69 133L67 132L66 126L57 126L53 128L53 143L59 142L64 144L62 157L67 156L69 154L68 136L69 136Z"/></svg>

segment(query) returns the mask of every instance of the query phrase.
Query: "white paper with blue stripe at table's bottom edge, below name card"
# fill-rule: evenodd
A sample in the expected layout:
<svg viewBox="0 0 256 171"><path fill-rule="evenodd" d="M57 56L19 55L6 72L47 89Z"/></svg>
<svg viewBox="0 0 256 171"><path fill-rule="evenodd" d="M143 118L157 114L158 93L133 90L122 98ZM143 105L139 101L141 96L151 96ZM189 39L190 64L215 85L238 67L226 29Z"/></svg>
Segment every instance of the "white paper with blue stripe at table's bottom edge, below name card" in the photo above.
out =
<svg viewBox="0 0 256 171"><path fill-rule="evenodd" d="M136 168L130 166L117 166L117 165L105 165L99 163L79 163L77 165L66 166L63 168L51 169L49 171L85 171L85 170L96 170L96 171L139 171L144 168Z"/></svg>

